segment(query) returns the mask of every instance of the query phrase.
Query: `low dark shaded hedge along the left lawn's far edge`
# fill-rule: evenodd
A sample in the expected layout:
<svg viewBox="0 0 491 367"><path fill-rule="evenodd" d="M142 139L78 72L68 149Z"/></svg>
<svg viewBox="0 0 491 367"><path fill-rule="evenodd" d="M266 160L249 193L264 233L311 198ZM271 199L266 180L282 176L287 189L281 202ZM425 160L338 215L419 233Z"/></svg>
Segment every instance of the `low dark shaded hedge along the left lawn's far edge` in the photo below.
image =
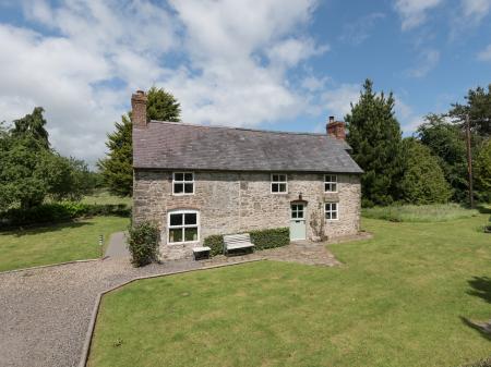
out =
<svg viewBox="0 0 491 367"><path fill-rule="evenodd" d="M29 209L14 208L0 213L0 228L53 223L94 216L129 217L131 209L124 204L49 203Z"/></svg>

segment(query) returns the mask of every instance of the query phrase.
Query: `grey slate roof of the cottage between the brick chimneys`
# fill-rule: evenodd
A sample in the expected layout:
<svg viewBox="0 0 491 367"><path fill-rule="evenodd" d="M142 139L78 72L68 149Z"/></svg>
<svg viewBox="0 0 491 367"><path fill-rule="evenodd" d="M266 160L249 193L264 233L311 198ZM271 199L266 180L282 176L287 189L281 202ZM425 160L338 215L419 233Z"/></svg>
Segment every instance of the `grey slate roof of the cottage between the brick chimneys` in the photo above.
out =
<svg viewBox="0 0 491 367"><path fill-rule="evenodd" d="M135 169L362 173L326 134L152 121L133 129Z"/></svg>

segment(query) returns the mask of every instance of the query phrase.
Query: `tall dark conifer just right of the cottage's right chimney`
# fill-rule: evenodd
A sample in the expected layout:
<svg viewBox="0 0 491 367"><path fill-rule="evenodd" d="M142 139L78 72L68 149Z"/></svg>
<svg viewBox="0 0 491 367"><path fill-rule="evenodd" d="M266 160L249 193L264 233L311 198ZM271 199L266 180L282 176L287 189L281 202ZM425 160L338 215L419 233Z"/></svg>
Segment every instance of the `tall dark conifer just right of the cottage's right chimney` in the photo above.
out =
<svg viewBox="0 0 491 367"><path fill-rule="evenodd" d="M403 175L402 133L394 115L394 97L391 93L373 91L367 79L347 122L347 140L352 158L363 169L361 176L362 205L390 205L399 199L398 183Z"/></svg>

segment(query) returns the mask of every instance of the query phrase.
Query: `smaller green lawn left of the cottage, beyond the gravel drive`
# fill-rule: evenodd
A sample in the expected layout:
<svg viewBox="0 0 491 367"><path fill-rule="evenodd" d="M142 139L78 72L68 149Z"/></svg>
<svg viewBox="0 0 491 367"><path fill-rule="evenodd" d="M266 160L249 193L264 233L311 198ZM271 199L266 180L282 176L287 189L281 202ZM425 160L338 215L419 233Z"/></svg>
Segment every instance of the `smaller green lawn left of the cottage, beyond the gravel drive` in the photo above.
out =
<svg viewBox="0 0 491 367"><path fill-rule="evenodd" d="M128 223L128 218L95 217L0 232L0 271L96 258L98 236L103 234L107 243L111 233L125 230Z"/></svg>

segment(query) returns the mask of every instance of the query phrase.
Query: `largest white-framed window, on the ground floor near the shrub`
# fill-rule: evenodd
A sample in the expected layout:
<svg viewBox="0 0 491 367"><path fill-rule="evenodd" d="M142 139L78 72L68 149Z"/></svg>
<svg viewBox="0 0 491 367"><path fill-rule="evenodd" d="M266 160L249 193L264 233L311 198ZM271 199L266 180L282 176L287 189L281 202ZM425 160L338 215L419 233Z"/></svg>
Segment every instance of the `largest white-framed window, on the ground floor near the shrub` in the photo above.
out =
<svg viewBox="0 0 491 367"><path fill-rule="evenodd" d="M173 210L167 217L167 243L200 241L200 212L197 210Z"/></svg>

